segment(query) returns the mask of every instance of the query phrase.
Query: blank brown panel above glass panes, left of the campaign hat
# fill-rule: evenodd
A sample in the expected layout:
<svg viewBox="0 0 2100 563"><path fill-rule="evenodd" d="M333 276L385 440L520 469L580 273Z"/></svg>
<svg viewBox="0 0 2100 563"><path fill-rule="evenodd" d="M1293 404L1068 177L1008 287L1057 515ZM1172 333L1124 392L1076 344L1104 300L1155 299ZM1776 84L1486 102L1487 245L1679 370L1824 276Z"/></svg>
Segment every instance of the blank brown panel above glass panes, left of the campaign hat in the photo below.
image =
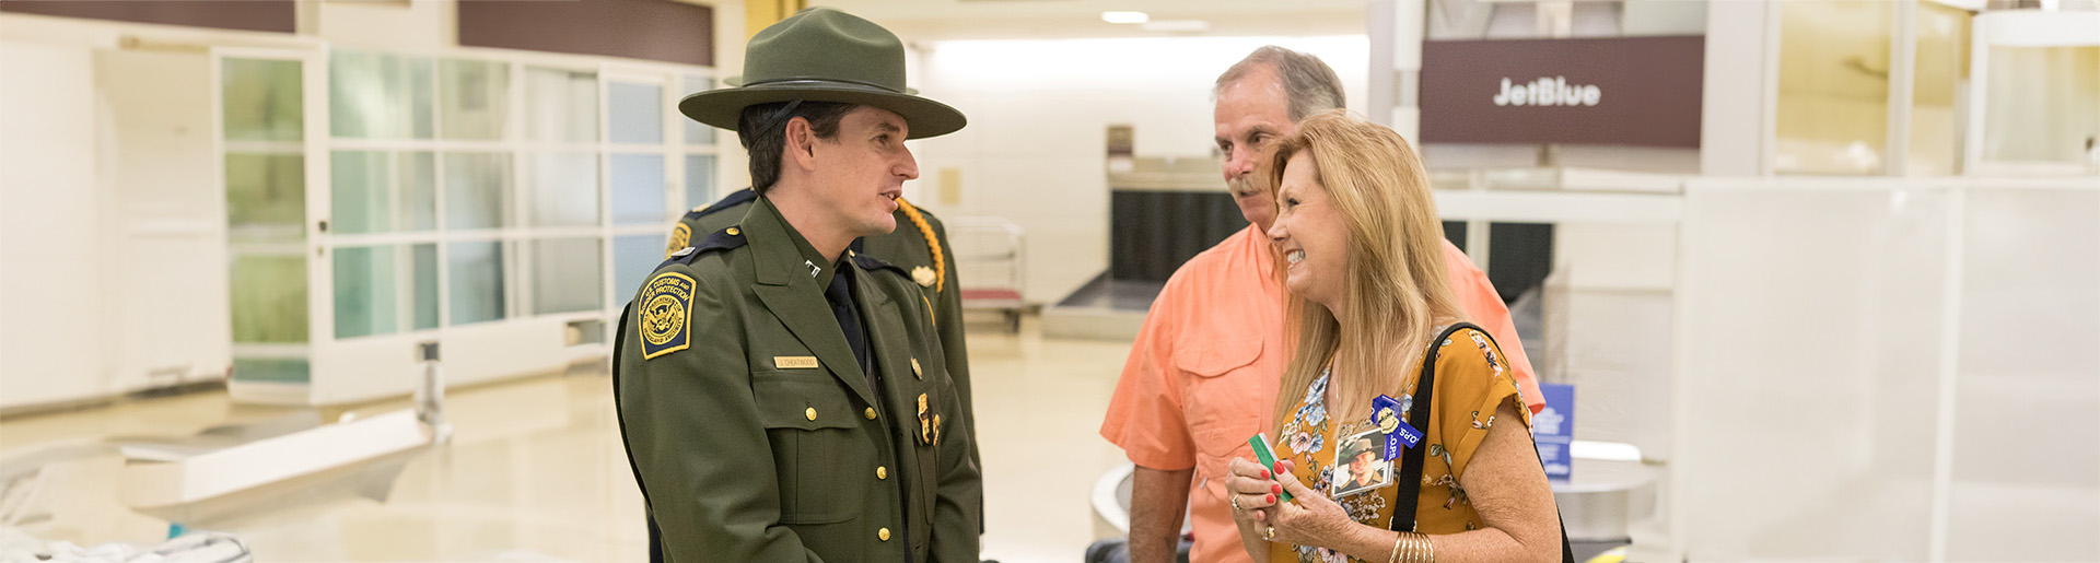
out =
<svg viewBox="0 0 2100 563"><path fill-rule="evenodd" d="M714 65L714 8L670 0L460 0L460 44Z"/></svg>

